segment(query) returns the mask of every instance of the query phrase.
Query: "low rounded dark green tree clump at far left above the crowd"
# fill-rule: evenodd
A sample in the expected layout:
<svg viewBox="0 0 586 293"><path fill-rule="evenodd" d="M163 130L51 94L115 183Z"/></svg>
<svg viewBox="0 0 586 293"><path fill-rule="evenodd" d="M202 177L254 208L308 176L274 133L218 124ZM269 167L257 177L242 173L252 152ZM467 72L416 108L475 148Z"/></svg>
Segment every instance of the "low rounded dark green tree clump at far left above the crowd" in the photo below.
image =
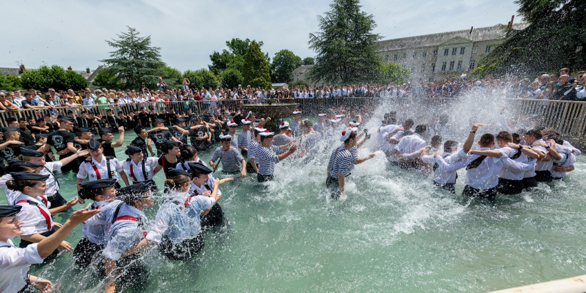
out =
<svg viewBox="0 0 586 293"><path fill-rule="evenodd" d="M88 81L81 74L72 70L64 70L59 65L42 65L38 69L29 69L21 74L23 88L34 88L46 92L49 88L55 90L79 90L88 87Z"/></svg>

